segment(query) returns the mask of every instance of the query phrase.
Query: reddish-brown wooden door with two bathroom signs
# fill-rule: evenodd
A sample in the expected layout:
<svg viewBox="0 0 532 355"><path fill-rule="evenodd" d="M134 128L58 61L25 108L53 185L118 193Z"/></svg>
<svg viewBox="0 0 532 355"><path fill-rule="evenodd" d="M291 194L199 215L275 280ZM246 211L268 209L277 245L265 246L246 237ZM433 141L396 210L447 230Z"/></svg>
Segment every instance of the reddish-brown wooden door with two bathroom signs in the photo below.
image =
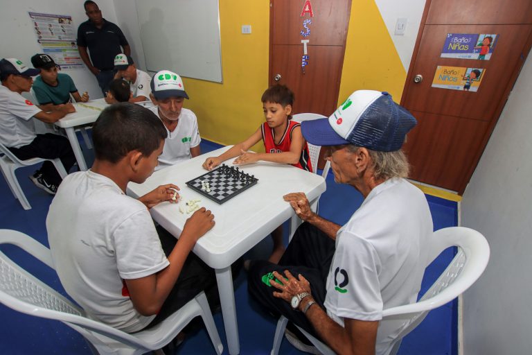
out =
<svg viewBox="0 0 532 355"><path fill-rule="evenodd" d="M497 34L489 60L441 58L447 34L486 33ZM463 193L531 44L530 0L427 0L401 101L418 119L405 145L413 180ZM478 91L432 87L438 66L484 69Z"/></svg>

